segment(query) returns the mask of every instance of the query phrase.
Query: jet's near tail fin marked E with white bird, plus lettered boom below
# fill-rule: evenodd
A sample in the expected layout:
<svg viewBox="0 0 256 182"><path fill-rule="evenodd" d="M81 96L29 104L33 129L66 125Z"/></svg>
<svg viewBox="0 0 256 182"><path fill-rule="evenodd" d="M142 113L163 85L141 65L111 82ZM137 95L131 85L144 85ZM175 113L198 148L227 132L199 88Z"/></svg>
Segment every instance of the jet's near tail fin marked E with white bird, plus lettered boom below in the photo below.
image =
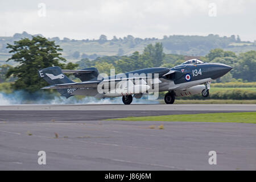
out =
<svg viewBox="0 0 256 182"><path fill-rule="evenodd" d="M44 78L50 85L73 83L73 81L63 74L60 67L40 69L38 76ZM75 89L57 89L57 91L61 96L68 98L72 96L71 93L75 91Z"/></svg>

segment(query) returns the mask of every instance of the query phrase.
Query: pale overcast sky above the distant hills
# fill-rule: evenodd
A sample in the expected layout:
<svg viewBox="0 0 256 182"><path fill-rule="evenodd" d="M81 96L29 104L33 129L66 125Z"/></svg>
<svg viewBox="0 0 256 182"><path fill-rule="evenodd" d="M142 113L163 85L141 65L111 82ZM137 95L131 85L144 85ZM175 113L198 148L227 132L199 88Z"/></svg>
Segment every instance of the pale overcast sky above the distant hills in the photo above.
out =
<svg viewBox="0 0 256 182"><path fill-rule="evenodd" d="M254 41L255 7L255 0L0 0L0 36L23 31L70 39L234 34Z"/></svg>

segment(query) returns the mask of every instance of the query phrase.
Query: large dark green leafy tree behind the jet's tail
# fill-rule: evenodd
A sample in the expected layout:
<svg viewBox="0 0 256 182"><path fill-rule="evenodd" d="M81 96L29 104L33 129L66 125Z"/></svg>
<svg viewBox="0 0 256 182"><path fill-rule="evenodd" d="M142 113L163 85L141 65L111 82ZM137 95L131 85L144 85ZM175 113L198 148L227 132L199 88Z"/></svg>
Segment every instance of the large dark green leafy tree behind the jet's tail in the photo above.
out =
<svg viewBox="0 0 256 182"><path fill-rule="evenodd" d="M7 44L13 55L7 60L14 60L18 65L10 68L6 73L6 77L14 76L18 79L14 82L13 88L16 90L26 90L33 93L40 88L47 86L48 83L38 76L38 70L59 66L62 69L74 69L77 64L60 63L66 60L61 56L59 51L62 49L41 36L34 36L32 39L24 38L14 42L14 45Z"/></svg>

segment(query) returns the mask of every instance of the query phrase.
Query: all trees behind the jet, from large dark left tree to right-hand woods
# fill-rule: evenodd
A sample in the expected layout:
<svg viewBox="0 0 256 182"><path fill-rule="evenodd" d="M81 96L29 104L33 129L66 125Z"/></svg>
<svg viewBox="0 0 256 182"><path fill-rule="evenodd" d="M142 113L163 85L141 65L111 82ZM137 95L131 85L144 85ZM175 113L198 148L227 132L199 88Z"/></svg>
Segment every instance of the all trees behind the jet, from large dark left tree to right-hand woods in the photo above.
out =
<svg viewBox="0 0 256 182"><path fill-rule="evenodd" d="M55 41L50 41L42 36L33 36L31 39L23 38L13 44L7 44L11 57L17 65L2 65L0 67L0 81L12 82L14 90L26 90L33 93L40 88L47 86L47 82L38 77L38 70L42 68L59 66L62 69L82 69L96 67L100 73L110 74L110 68L115 68L115 73L124 73L136 69L151 67L167 67L183 63L183 55L164 54L163 44L148 44L143 52L133 52L130 56L103 56L94 60L88 58L81 59L76 64L67 63L61 56L59 45ZM222 49L212 49L203 61L218 62L234 67L230 73L217 80L225 81L256 81L256 51L248 51L236 55L232 51Z"/></svg>

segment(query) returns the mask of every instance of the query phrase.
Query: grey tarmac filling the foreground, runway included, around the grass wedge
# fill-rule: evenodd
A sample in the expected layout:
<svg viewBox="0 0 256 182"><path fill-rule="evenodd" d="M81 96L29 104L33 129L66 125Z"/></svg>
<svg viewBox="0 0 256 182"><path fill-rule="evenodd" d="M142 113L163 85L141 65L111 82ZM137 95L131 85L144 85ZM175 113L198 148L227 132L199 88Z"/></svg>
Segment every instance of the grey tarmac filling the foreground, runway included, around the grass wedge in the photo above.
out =
<svg viewBox="0 0 256 182"><path fill-rule="evenodd" d="M255 124L102 121L238 111L256 105L0 106L0 169L256 170ZM46 165L38 164L39 151ZM209 151L217 152L216 165Z"/></svg>

